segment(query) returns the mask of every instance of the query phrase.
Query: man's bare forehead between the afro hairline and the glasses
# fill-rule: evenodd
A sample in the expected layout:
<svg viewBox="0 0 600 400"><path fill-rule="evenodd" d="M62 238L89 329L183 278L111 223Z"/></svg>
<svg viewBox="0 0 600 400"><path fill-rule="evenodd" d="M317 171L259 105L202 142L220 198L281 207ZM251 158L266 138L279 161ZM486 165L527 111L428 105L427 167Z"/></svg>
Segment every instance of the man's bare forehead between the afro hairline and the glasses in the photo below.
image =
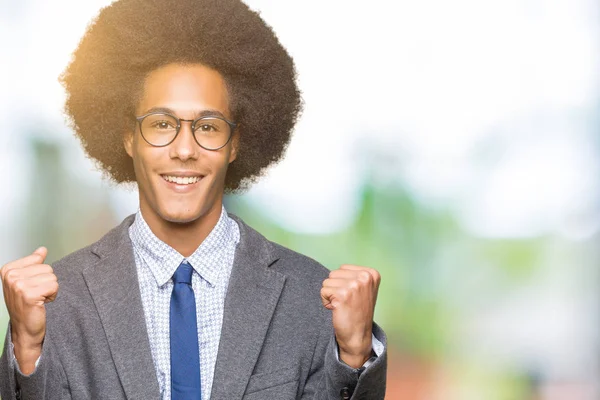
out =
<svg viewBox="0 0 600 400"><path fill-rule="evenodd" d="M223 76L202 64L169 64L148 74L136 111L139 115L156 107L170 108L180 118L203 110L231 117Z"/></svg>

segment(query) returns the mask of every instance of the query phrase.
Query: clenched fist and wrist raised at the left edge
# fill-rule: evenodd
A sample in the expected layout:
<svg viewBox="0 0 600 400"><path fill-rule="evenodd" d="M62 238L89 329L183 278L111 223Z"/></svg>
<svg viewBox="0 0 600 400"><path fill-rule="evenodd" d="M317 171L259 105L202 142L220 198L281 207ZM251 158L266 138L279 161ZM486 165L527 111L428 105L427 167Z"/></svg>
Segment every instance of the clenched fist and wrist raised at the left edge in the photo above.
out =
<svg viewBox="0 0 600 400"><path fill-rule="evenodd" d="M45 304L53 301L58 293L52 267L43 264L47 254L48 250L40 247L0 269L15 357L24 374L35 369L46 335Z"/></svg>

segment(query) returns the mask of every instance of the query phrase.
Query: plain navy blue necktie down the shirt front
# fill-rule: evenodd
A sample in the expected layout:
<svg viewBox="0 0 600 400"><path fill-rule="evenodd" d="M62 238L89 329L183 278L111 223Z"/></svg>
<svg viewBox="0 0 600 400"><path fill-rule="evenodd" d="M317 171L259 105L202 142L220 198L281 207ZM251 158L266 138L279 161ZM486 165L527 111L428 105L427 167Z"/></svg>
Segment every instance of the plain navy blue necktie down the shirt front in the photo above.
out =
<svg viewBox="0 0 600 400"><path fill-rule="evenodd" d="M183 261L173 275L169 318L172 400L202 399L192 271L192 266Z"/></svg>

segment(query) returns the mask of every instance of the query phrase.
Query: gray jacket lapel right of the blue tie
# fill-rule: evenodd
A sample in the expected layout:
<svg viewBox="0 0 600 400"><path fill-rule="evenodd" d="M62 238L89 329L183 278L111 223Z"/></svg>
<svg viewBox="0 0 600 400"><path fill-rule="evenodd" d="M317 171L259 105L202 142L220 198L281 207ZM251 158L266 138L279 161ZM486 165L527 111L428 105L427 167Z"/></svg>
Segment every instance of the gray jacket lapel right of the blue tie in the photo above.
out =
<svg viewBox="0 0 600 400"><path fill-rule="evenodd" d="M240 226L240 242L225 297L213 400L242 398L285 282L269 268L277 260L272 244L231 217Z"/></svg>

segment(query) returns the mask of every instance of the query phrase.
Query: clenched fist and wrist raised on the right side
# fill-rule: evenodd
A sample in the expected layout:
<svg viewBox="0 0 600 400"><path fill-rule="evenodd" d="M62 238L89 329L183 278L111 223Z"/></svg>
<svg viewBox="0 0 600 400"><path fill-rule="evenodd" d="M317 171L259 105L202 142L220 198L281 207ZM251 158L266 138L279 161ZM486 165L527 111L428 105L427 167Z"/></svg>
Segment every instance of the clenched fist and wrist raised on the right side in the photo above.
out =
<svg viewBox="0 0 600 400"><path fill-rule="evenodd" d="M373 312L381 275L373 268L342 265L323 281L321 300L333 311L340 359L360 368L371 356Z"/></svg>

